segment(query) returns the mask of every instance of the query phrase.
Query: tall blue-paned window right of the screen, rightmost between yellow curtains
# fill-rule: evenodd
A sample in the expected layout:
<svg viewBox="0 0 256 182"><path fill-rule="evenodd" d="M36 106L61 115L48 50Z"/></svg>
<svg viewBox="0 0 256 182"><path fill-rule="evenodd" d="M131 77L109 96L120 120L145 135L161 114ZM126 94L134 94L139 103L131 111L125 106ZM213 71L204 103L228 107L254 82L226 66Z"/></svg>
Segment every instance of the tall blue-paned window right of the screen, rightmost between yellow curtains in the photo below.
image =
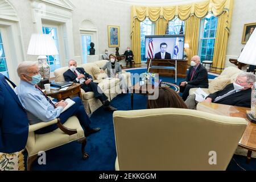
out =
<svg viewBox="0 0 256 182"><path fill-rule="evenodd" d="M213 59L218 18L212 14L201 21L200 49L201 61Z"/></svg>

